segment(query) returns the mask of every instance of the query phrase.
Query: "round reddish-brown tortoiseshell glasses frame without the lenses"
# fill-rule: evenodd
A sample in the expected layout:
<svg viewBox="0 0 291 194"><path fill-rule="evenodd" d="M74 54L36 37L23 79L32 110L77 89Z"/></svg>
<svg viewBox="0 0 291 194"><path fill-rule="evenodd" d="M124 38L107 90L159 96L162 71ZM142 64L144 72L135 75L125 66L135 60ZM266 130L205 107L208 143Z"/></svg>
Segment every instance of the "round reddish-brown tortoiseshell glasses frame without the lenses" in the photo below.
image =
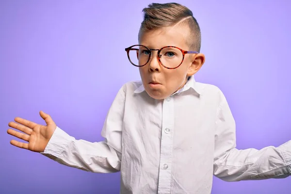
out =
<svg viewBox="0 0 291 194"><path fill-rule="evenodd" d="M139 50L139 49L133 49L133 47L136 47L136 46L142 46L142 47L145 47L146 49L148 49L148 50L150 51L150 54L148 55L148 60L147 60L146 64L149 62L149 60L150 60L150 58L151 58L152 50L158 50L158 59L159 59L159 63L160 63L163 67L165 67L165 68L167 68L167 69L176 69L176 68L178 68L178 67L183 63L184 58L185 58L185 54L190 54L190 53L196 53L196 54L197 54L197 53L198 53L197 51L183 50L183 49L180 49L180 48L178 48L178 47L174 47L174 46L165 46L165 47L162 47L161 49L149 49L149 48L147 48L147 47L144 46L144 45L132 45L132 46L126 48L125 51L127 52L127 55L128 55L128 58L129 58L129 62L130 62L132 65L137 66L137 67L142 67L142 66L145 66L146 64L145 64L145 65L135 65L135 64L132 63L132 61L130 60L130 57L129 57L129 51L130 51L130 50ZM176 48L176 49L179 49L179 50L182 52L182 54L183 54L183 59L182 59L181 63L180 63L178 66L176 66L176 67L167 67L167 66L165 66L165 65L162 64L160 53L161 53L162 49L164 49L164 48Z"/></svg>

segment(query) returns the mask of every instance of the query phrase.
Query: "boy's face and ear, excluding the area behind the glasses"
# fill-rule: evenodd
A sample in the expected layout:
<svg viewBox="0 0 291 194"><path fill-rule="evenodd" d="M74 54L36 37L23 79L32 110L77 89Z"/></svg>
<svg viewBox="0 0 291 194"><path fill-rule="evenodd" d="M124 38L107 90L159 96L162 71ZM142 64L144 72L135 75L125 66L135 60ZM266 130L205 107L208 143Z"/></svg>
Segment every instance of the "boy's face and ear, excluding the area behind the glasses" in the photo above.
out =
<svg viewBox="0 0 291 194"><path fill-rule="evenodd" d="M189 46L185 41L188 32L189 28L181 25L141 32L139 44L149 49L175 46L188 51ZM200 53L185 54L184 61L178 68L167 69L159 63L157 52L153 50L149 62L145 66L139 67L145 90L150 97L155 99L164 99L182 88L188 76L194 75L205 60L205 56Z"/></svg>

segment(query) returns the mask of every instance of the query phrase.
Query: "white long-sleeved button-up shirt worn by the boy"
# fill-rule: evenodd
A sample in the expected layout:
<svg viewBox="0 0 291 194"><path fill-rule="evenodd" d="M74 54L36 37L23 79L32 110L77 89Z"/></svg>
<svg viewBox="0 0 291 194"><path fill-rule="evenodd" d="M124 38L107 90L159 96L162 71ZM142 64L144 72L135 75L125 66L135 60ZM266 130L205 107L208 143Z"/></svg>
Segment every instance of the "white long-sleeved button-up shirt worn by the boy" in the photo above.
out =
<svg viewBox="0 0 291 194"><path fill-rule="evenodd" d="M285 178L291 141L236 149L235 121L219 88L194 81L164 100L141 81L124 84L107 114L103 142L76 140L57 127L42 153L95 173L121 171L121 194L210 194L226 181Z"/></svg>

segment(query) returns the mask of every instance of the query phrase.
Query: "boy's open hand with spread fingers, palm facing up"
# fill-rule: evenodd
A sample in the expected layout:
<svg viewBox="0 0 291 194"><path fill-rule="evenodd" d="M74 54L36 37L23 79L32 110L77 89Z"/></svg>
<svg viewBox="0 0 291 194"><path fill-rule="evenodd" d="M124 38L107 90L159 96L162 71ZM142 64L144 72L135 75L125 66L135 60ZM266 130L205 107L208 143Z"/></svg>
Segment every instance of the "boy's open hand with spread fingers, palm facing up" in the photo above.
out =
<svg viewBox="0 0 291 194"><path fill-rule="evenodd" d="M10 143L14 146L29 149L34 152L43 152L56 129L56 124L48 114L40 112L40 115L46 121L47 126L39 125L19 117L15 118L17 123L10 122L10 127L18 129L24 133L20 133L13 129L8 129L7 133L28 142L22 143L12 140Z"/></svg>

